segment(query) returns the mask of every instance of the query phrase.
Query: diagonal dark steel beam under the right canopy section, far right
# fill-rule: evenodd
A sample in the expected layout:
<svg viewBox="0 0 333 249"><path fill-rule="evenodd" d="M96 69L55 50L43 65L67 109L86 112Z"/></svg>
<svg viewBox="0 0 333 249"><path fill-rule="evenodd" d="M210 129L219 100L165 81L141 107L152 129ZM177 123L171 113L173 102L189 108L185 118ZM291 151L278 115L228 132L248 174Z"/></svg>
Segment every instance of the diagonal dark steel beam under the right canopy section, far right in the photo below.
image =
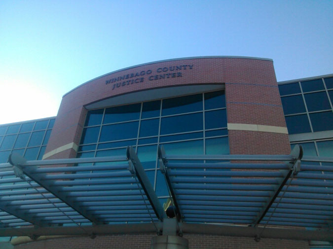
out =
<svg viewBox="0 0 333 249"><path fill-rule="evenodd" d="M268 199L268 201L266 202L266 204L263 206L263 208L259 212L257 218L253 221L252 226L257 226L260 223L260 221L262 220L262 218L265 217L266 213L268 212L268 210L270 209L270 207L274 203L276 197L281 192L282 188L287 183L287 181L290 178L290 176L292 174L297 174L298 171L300 170L300 159L303 156L303 149L302 149L302 147L299 146L299 145L296 145L294 147L293 151L291 152L290 156L293 157L293 158L295 158L295 159L292 161L292 164L291 164L291 167L290 167L289 171L288 170L281 171L283 173L283 175L284 175L281 184L276 187L276 190L273 192L273 194L271 195L271 197Z"/></svg>

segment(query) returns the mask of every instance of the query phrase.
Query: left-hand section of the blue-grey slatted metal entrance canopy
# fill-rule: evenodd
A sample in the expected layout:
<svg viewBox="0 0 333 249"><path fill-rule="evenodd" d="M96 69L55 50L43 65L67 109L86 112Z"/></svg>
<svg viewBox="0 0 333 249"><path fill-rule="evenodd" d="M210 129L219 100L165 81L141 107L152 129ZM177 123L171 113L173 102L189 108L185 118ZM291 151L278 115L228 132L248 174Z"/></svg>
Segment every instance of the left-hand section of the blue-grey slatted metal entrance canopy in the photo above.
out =
<svg viewBox="0 0 333 249"><path fill-rule="evenodd" d="M0 171L2 228L77 225L84 230L91 223L155 222L165 216L132 147L124 156L96 158L27 161L11 154L9 163L10 170L8 163L0 164L6 169Z"/></svg>

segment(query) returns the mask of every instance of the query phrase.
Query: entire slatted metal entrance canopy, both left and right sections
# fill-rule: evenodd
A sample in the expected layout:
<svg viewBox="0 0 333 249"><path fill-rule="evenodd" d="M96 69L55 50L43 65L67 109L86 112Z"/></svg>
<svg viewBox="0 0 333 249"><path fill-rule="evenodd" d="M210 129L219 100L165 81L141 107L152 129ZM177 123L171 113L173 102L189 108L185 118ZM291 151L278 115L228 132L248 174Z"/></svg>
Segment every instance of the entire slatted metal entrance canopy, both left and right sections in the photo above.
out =
<svg viewBox="0 0 333 249"><path fill-rule="evenodd" d="M167 218L133 148L124 156L26 161L12 154L9 161L0 164L0 236L174 229L333 240L333 166L324 165L333 158L302 156L299 146L291 155L180 156L159 148L177 219Z"/></svg>

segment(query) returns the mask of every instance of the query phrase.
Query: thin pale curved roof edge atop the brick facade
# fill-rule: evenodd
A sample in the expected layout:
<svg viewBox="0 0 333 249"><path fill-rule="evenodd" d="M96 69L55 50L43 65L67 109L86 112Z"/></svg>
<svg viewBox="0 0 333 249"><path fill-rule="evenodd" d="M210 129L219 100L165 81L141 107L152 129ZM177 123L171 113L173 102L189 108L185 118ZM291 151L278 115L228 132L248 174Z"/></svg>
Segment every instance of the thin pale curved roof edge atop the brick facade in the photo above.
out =
<svg viewBox="0 0 333 249"><path fill-rule="evenodd" d="M155 63L160 63L160 62L172 62L172 61L192 60L192 59L216 59L216 58L251 59L251 60L261 60L261 61L270 61L270 62L273 62L272 59L268 59L268 58L247 57L247 56L195 56L195 57L183 57L183 58L175 58L175 59L161 60L161 61L155 61L155 62L147 62L147 63L142 63L142 64L138 64L138 65L134 65L134 66L129 66L129 67L125 67L125 68L122 68L122 69L118 69L118 70L112 71L110 73L103 74L101 76L98 76L96 78L88 80L87 82L84 82L83 84L75 87L74 89L72 89L68 93L71 93L75 89L77 89L77 88L79 88L79 87L81 87L81 86L83 86L85 84L88 84L89 82L92 82L94 80L97 80L99 78L107 76L109 74L121 72L121 71L124 71L124 70L127 70L127 69L131 69L131 68L135 68L135 67L138 67L138 66L144 66L144 65L155 64ZM65 93L63 95L63 97L66 96L68 93Z"/></svg>

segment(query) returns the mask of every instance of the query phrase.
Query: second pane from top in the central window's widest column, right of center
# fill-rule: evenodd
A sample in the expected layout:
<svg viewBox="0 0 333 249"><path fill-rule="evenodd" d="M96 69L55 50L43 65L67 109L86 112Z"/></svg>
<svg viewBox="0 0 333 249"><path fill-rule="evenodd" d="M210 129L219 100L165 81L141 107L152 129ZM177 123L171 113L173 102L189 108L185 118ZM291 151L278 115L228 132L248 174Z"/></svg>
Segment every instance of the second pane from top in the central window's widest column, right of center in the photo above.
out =
<svg viewBox="0 0 333 249"><path fill-rule="evenodd" d="M160 134L165 135L202 129L202 113L193 113L162 118Z"/></svg>

